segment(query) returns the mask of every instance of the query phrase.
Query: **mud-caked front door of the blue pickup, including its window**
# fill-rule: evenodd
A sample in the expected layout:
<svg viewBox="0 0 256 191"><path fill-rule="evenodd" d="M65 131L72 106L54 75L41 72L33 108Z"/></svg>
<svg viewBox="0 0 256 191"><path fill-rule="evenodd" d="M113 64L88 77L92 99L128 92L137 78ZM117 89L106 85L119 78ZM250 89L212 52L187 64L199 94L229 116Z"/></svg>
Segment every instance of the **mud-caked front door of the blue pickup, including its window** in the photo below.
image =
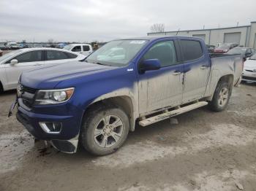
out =
<svg viewBox="0 0 256 191"><path fill-rule="evenodd" d="M171 40L157 42L140 59L158 59L161 69L139 74L139 112L153 112L182 101L183 64L178 63L176 46Z"/></svg>

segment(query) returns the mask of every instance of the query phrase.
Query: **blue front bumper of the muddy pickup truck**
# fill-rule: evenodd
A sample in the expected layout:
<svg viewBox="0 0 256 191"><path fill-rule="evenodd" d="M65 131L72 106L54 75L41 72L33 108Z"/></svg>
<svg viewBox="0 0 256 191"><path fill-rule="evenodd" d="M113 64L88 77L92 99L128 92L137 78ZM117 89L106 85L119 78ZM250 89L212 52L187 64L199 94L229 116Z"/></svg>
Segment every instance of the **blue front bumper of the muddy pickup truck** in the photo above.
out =
<svg viewBox="0 0 256 191"><path fill-rule="evenodd" d="M59 149L61 152L76 152L80 133L80 123L83 116L82 111L77 109L76 111L72 111L74 115L63 116L34 113L23 109L20 105L18 105L17 108L17 120L23 124L29 133L36 139L50 141L50 143L53 144L53 147ZM39 125L39 122L61 122L61 131L59 133L47 133Z"/></svg>

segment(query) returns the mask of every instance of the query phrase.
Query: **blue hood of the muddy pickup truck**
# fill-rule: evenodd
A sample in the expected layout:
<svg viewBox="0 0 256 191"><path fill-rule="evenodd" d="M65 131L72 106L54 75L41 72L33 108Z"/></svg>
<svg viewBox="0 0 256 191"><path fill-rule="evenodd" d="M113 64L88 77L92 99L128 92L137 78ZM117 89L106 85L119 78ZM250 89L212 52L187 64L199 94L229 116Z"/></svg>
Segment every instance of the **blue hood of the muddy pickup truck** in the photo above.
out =
<svg viewBox="0 0 256 191"><path fill-rule="evenodd" d="M22 85L35 89L50 89L63 80L88 76L112 69L116 69L116 67L79 61L68 62L25 71L21 75L20 82Z"/></svg>

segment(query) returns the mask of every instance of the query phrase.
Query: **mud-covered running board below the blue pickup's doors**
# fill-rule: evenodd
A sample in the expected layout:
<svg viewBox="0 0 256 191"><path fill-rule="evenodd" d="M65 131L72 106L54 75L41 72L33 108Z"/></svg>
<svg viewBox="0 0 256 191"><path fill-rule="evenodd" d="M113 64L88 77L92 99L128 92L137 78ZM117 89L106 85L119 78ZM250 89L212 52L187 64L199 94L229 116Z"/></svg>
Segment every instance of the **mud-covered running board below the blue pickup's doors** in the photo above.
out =
<svg viewBox="0 0 256 191"><path fill-rule="evenodd" d="M166 120L170 117L173 117L173 116L176 116L178 114L183 114L185 112L189 112L193 109L197 109L201 106L206 106L208 104L208 102L206 101L199 101L195 104L191 104L189 106L184 106L184 107L181 107L181 108L178 108L178 109L175 109L175 110L172 110L170 112L165 112L163 114L158 114L154 117L149 117L149 118L146 118L146 119L143 119L143 120L140 120L139 124L143 127L147 126L147 125L151 125L155 122L159 122L159 121L162 121L162 120Z"/></svg>

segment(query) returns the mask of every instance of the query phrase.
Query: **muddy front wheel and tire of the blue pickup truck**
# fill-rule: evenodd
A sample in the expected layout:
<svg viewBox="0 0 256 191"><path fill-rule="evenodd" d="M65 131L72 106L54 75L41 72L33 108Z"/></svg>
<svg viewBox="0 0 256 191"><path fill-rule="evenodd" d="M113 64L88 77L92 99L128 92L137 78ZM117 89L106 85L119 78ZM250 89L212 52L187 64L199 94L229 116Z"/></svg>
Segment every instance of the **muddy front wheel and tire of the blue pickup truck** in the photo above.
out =
<svg viewBox="0 0 256 191"><path fill-rule="evenodd" d="M127 114L116 106L89 109L81 127L80 141L93 155L109 155L121 147L129 133Z"/></svg>

